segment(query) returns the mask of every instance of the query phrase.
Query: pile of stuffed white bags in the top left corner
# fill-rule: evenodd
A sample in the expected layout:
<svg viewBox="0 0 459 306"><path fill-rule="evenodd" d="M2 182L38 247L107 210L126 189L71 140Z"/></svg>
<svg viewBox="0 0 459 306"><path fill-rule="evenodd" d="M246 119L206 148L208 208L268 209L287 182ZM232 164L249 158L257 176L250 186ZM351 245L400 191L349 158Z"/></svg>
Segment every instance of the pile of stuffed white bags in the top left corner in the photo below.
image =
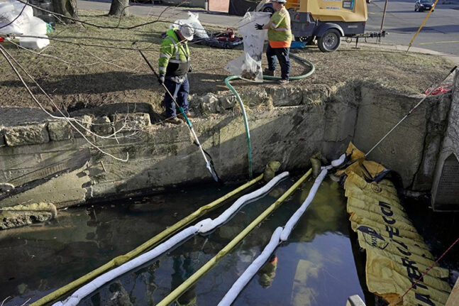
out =
<svg viewBox="0 0 459 306"><path fill-rule="evenodd" d="M0 0L0 33L46 37L19 38L19 44L24 48L44 48L50 44L50 40L46 35L46 23L33 16L31 6L24 6L26 4L16 0ZM11 23L12 21L13 23ZM6 26L8 24L9 26Z"/></svg>

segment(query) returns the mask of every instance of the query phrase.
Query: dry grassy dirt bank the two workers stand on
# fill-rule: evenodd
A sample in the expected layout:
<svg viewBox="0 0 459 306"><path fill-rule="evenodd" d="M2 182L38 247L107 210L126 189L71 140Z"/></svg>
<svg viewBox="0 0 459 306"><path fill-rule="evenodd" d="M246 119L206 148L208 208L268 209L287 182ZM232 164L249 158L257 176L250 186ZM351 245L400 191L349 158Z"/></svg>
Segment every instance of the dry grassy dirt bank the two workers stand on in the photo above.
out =
<svg viewBox="0 0 459 306"><path fill-rule="evenodd" d="M118 18L96 15L89 11L80 12L80 18L101 25L118 24ZM123 18L121 26L132 26L151 20L130 16ZM136 48L148 49L145 54L153 66L157 67L160 35L167 30L169 22L160 20L132 30L58 25L50 37L62 41L52 40L47 48L39 52L18 48L13 44L17 44L18 40L13 40L13 43L6 41L2 45L62 109L147 102L159 110L162 88L138 51L81 44L132 48L132 43L136 42ZM221 31L224 28L204 27L210 31ZM441 80L453 66L451 62L438 56L406 54L377 48L354 49L353 46L354 44L343 41L334 53L321 53L315 46L292 50L313 62L316 72L304 80L290 82L289 86L331 86L337 82L365 79L387 84L404 92L419 93L424 92L433 82ZM228 72L224 67L230 60L243 54L242 46L233 50L222 50L192 44L190 48L194 68L189 75L191 93L228 90L224 84ZM266 67L265 57L263 65ZM292 59L292 76L302 75L307 71L309 67ZM51 109L51 103L45 95L40 94L38 87L23 72L21 74L38 100ZM236 89L259 86L242 80L233 82L233 85ZM4 57L0 57L0 92L0 107L38 107Z"/></svg>

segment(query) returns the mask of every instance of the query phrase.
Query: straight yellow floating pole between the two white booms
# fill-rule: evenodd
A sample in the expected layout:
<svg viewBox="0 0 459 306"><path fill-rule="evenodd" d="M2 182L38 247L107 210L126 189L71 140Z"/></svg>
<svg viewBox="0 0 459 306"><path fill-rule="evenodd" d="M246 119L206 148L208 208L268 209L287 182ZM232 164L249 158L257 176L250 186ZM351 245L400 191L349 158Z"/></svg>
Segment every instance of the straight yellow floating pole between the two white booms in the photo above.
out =
<svg viewBox="0 0 459 306"><path fill-rule="evenodd" d="M224 248L222 248L221 251L219 251L219 253L217 253L216 256L214 256L214 258L212 258L204 266L199 268L198 271L196 271L181 285L175 288L175 290L172 291L172 293L167 295L167 297L165 297L161 302L157 303L156 306L170 305L170 303L174 302L180 295L187 291L188 288L190 288L194 283L197 282L197 280L199 280L199 278L206 274L211 268L216 266L216 264L219 263L219 261L221 261L221 259L223 259L226 256L226 254L229 251L231 251L231 249L234 248L242 239L244 239L244 237L247 236L250 233L250 231L252 231L255 228L255 226L260 224L260 222L262 222L266 217L268 217L272 212L274 212L275 209L277 209L277 207L280 207L282 202L284 202L284 200L287 199L287 197L289 197L289 195L291 195L292 192L294 192L299 187L299 185L302 184L302 182L304 182L304 180L306 180L307 177L309 177L309 175L311 175L311 173L312 169L309 169L309 171L306 172L302 177L300 177L300 179L297 180L297 182L295 182L294 185L292 185L292 187L290 187L289 190L287 190L279 199L277 199L276 202L271 204L271 206L268 207L264 212L262 212L262 214L260 214L260 216L258 216L257 219L253 220L253 222L250 223L245 229L243 229L243 231L241 231L238 234L238 236L234 237L233 240L231 240Z"/></svg>

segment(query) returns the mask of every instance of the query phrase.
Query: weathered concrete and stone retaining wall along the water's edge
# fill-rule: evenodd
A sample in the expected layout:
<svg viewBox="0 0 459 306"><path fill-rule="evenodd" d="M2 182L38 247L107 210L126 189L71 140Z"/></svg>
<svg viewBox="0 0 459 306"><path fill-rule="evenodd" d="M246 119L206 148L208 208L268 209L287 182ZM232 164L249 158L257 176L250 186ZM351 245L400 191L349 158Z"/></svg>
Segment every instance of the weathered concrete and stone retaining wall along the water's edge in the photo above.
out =
<svg viewBox="0 0 459 306"><path fill-rule="evenodd" d="M365 82L308 89L260 86L240 94L253 109L248 117L255 174L270 160L279 160L282 170L293 170L306 168L309 157L319 151L336 158L349 141L365 152L420 98ZM430 190L450 99L446 94L426 101L370 159L397 170L405 187ZM192 106L201 114L193 121L194 129L219 175L245 180L247 143L236 99L228 92L207 94L193 97ZM116 138L83 133L110 154L128 154L127 163L97 151L65 121L46 119L40 110L38 116L28 110L33 122L18 109L1 111L0 183L22 186L0 190L0 207L31 200L64 207L212 180L187 126L157 124L158 115L148 105L133 104L128 115L120 114L126 105L72 114L101 135L124 126ZM21 114L21 124L15 124L12 113Z"/></svg>

